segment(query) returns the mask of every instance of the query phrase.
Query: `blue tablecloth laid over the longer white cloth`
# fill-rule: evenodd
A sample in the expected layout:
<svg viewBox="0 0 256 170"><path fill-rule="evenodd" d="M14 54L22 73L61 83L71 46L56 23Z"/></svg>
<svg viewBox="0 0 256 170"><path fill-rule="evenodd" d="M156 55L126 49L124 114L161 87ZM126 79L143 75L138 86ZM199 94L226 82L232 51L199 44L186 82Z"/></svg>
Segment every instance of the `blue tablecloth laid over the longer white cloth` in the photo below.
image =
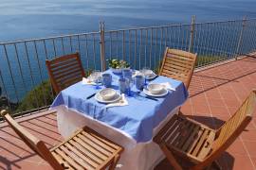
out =
<svg viewBox="0 0 256 170"><path fill-rule="evenodd" d="M119 89L118 79L119 76L113 75L114 89ZM144 97L126 97L128 106L105 109L105 104L97 102L94 97L86 99L87 96L98 91L95 86L78 82L59 93L51 108L64 105L109 126L119 128L133 137L137 143L148 142L153 138L153 129L165 119L168 113L182 105L188 97L187 89L181 81L158 76L152 82L170 82L175 91L169 92L164 97L158 97L158 101ZM137 91L135 87L132 90ZM144 94L141 93L141 95Z"/></svg>

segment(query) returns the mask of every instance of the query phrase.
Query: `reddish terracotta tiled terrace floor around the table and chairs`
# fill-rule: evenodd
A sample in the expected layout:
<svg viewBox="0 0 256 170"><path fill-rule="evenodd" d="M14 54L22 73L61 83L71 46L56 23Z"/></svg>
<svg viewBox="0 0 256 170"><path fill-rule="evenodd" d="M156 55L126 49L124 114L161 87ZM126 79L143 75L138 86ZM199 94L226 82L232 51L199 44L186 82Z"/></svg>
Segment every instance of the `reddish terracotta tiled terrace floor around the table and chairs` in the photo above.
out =
<svg viewBox="0 0 256 170"><path fill-rule="evenodd" d="M197 71L192 76L191 97L182 111L201 123L217 128L229 119L253 88L256 88L256 59L253 58ZM62 141L55 113L45 111L19 121L32 134L45 141L48 147ZM5 123L0 126L0 168L51 169ZM220 162L224 169L256 169L256 116ZM170 169L167 165L167 161L162 161L155 169Z"/></svg>

